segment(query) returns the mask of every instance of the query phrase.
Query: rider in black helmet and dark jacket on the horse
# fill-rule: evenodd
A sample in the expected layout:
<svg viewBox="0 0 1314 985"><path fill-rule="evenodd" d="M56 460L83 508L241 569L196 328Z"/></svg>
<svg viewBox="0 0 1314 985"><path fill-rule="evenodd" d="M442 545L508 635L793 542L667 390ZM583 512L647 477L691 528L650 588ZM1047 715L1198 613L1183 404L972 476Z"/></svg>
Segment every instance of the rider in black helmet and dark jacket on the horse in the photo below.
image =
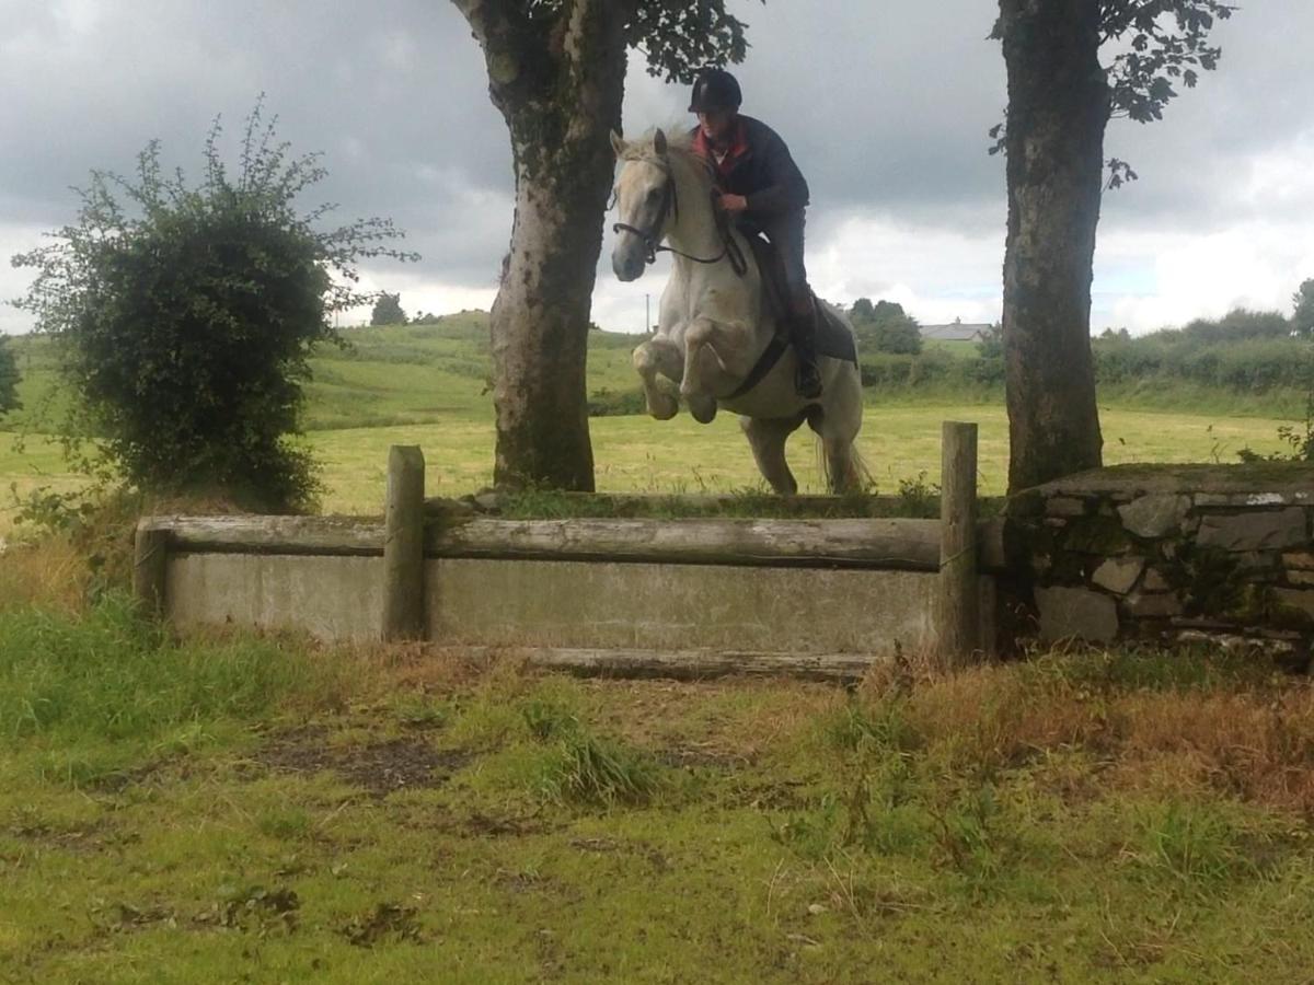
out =
<svg viewBox="0 0 1314 985"><path fill-rule="evenodd" d="M746 235L765 234L784 267L790 335L798 355L795 389L821 395L816 357L816 306L803 265L803 221L808 183L771 127L741 116L738 81L724 68L707 68L694 81L689 112L698 114L694 150L715 165L720 206Z"/></svg>

